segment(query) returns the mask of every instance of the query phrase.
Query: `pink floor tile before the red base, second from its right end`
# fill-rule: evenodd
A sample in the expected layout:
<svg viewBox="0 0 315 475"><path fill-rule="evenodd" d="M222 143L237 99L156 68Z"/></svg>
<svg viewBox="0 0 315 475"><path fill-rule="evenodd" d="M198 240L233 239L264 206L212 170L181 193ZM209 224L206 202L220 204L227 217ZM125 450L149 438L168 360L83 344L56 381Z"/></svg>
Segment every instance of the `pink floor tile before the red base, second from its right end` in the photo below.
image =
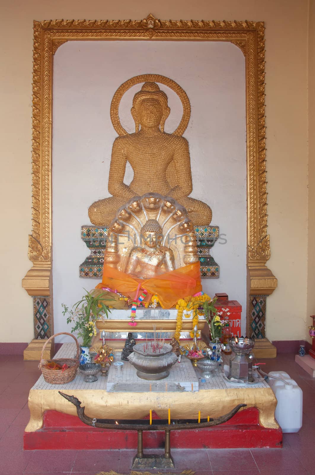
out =
<svg viewBox="0 0 315 475"><path fill-rule="evenodd" d="M257 470L257 465L250 449L208 449L208 456L213 472L216 470Z"/></svg>

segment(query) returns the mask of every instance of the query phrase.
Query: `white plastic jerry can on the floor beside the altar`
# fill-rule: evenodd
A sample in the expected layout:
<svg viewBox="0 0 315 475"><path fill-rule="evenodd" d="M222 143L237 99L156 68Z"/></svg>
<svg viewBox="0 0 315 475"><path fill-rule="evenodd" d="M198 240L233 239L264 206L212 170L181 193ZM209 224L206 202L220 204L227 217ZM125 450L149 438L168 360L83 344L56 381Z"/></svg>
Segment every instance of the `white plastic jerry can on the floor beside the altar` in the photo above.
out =
<svg viewBox="0 0 315 475"><path fill-rule="evenodd" d="M285 371L270 371L269 386L275 393L278 404L275 418L282 432L298 432L302 427L303 392ZM271 378L280 378L276 380Z"/></svg>

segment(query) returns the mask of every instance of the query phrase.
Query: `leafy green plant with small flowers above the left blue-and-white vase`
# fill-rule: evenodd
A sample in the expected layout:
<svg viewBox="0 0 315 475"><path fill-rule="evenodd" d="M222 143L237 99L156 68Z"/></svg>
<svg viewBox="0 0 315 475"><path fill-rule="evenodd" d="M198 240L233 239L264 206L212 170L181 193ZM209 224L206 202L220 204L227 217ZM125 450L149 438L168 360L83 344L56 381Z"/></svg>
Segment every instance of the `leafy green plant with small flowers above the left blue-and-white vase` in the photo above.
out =
<svg viewBox="0 0 315 475"><path fill-rule="evenodd" d="M85 290L85 289L84 289ZM109 307L104 304L102 299L104 293L92 290L83 295L79 302L76 302L72 309L62 304L63 315L67 315L67 323L72 323L74 326L71 331L77 332L78 336L83 339L82 346L90 347L93 336L96 335L95 322L98 318L108 318L108 313L111 312ZM106 294L106 300L108 295Z"/></svg>

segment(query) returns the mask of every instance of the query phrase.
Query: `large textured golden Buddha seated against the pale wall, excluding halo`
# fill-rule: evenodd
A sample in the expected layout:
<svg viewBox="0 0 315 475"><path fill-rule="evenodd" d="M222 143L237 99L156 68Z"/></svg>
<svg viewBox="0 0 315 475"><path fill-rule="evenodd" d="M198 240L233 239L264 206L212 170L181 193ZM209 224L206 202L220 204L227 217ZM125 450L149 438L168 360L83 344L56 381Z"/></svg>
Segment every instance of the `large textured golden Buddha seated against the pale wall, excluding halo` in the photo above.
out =
<svg viewBox="0 0 315 475"><path fill-rule="evenodd" d="M212 211L208 205L188 195L193 190L188 142L180 135L164 132L170 113L167 95L153 82L146 82L134 95L131 114L135 133L118 137L112 146L108 190L111 198L89 208L89 218L97 226L108 226L126 201L145 193L159 193L175 199L195 225L207 226ZM124 183L127 161L134 176Z"/></svg>

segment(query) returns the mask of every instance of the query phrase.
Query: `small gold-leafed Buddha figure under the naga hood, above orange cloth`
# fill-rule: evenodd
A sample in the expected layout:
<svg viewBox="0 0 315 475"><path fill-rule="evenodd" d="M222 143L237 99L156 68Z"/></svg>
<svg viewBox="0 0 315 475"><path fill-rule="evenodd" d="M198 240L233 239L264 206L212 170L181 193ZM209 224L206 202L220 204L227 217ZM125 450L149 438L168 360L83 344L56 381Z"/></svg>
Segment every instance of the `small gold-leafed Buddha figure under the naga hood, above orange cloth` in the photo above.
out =
<svg viewBox="0 0 315 475"><path fill-rule="evenodd" d="M148 219L140 232L140 246L133 247L127 265L127 274L139 279L150 279L175 269L171 249L161 246L162 228L156 219Z"/></svg>

